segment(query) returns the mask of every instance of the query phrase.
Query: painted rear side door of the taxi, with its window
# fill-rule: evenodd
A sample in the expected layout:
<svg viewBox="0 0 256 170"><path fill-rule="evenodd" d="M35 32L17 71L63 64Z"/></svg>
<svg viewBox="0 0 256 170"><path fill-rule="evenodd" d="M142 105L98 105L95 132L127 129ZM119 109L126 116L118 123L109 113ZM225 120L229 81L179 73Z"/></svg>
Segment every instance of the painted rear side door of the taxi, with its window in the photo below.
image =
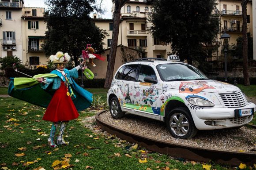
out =
<svg viewBox="0 0 256 170"><path fill-rule="evenodd" d="M137 75L137 64L126 65L121 80L118 80L117 86L120 90L118 100L123 111L133 112L134 110L134 82Z"/></svg>

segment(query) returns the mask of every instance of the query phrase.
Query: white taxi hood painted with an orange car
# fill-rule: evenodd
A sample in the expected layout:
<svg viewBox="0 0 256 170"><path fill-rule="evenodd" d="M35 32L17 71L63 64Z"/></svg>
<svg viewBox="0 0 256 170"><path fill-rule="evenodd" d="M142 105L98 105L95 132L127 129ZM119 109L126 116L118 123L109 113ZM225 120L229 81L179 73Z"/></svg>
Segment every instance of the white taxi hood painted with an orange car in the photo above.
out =
<svg viewBox="0 0 256 170"><path fill-rule="evenodd" d="M163 88L178 89L180 93L197 94L200 92L234 94L241 90L232 84L216 80L188 80L164 82Z"/></svg>

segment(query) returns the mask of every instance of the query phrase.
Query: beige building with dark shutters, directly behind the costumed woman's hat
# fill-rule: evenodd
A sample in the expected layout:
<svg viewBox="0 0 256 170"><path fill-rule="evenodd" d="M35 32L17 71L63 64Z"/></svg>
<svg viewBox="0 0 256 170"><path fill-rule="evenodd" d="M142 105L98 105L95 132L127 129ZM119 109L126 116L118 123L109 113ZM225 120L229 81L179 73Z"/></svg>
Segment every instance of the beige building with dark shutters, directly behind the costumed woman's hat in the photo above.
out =
<svg viewBox="0 0 256 170"><path fill-rule="evenodd" d="M23 7L22 9L22 56L23 61L29 65L46 64L49 60L42 49L46 31L44 12L44 8Z"/></svg>

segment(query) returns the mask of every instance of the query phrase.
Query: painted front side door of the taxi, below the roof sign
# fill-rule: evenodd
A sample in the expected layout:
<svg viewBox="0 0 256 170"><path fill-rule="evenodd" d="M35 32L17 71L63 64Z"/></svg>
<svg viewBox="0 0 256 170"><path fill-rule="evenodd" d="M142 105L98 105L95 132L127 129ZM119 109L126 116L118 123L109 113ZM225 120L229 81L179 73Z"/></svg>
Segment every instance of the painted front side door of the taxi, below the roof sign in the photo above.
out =
<svg viewBox="0 0 256 170"><path fill-rule="evenodd" d="M144 78L151 76L158 83L147 83ZM136 107L134 113L137 115L160 119L160 97L162 93L162 83L157 69L152 64L142 63L139 67L138 76L134 83L134 98Z"/></svg>

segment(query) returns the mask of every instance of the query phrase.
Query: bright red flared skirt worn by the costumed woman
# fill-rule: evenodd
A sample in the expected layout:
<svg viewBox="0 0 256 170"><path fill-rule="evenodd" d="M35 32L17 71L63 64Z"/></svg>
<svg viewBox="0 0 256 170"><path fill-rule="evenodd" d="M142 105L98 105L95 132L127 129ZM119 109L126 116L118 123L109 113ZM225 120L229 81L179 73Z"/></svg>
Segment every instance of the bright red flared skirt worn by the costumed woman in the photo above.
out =
<svg viewBox="0 0 256 170"><path fill-rule="evenodd" d="M67 95L67 87L63 81L50 101L43 120L60 122L76 119L79 116L70 96Z"/></svg>

